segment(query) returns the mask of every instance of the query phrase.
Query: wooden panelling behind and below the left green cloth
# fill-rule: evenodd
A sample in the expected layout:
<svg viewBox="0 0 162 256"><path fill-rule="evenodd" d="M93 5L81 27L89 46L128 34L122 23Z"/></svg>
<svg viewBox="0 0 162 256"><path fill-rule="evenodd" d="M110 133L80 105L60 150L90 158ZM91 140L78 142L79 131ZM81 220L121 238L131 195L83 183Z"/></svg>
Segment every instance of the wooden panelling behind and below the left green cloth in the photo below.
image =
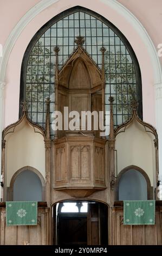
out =
<svg viewBox="0 0 162 256"><path fill-rule="evenodd" d="M37 225L15 225L7 227L5 203L0 203L0 245L49 245L50 216L47 203L38 202Z"/></svg>

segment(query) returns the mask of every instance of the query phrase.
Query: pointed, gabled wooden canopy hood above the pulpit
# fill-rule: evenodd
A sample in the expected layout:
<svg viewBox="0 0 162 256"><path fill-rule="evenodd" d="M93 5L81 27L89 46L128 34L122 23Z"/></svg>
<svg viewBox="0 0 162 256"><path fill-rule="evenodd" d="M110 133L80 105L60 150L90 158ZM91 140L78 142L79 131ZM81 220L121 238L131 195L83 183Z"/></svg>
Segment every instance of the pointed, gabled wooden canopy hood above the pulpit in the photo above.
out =
<svg viewBox="0 0 162 256"><path fill-rule="evenodd" d="M81 46L59 71L59 85L68 88L93 88L101 85L101 70Z"/></svg>

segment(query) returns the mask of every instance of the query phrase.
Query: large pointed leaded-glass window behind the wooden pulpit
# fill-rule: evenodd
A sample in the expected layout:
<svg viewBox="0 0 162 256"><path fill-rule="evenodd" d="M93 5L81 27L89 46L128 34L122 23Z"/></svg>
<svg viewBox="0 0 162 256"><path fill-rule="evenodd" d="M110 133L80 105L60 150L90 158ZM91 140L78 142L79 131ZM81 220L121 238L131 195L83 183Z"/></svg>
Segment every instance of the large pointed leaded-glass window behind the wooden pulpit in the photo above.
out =
<svg viewBox="0 0 162 256"><path fill-rule="evenodd" d="M141 75L138 60L125 36L101 15L82 7L71 8L47 22L30 41L21 70L20 101L28 103L29 118L45 127L46 99L50 97L50 114L55 110L55 51L59 46L59 68L76 48L76 36L84 36L83 47L101 68L105 52L105 109L109 96L114 97L115 126L132 114L132 99L139 102L142 118ZM51 120L50 120L51 122ZM54 131L51 130L51 136Z"/></svg>

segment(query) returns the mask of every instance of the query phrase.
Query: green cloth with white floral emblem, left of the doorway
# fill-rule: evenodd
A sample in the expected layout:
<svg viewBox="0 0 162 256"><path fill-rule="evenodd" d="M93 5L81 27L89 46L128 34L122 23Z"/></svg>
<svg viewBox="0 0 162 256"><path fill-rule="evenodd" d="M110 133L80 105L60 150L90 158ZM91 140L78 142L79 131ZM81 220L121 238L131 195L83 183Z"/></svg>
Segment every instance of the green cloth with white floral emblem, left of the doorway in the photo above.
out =
<svg viewBox="0 0 162 256"><path fill-rule="evenodd" d="M37 202L6 202L6 224L37 225Z"/></svg>

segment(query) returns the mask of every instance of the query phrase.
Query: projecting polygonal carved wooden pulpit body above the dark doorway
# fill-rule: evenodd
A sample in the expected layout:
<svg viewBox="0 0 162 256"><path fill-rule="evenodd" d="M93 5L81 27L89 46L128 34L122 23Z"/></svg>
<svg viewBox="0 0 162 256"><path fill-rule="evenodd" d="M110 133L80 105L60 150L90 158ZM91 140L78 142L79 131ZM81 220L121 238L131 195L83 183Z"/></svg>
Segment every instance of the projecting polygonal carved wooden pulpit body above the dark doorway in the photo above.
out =
<svg viewBox="0 0 162 256"><path fill-rule="evenodd" d="M105 139L76 135L54 143L55 190L77 198L105 190Z"/></svg>

